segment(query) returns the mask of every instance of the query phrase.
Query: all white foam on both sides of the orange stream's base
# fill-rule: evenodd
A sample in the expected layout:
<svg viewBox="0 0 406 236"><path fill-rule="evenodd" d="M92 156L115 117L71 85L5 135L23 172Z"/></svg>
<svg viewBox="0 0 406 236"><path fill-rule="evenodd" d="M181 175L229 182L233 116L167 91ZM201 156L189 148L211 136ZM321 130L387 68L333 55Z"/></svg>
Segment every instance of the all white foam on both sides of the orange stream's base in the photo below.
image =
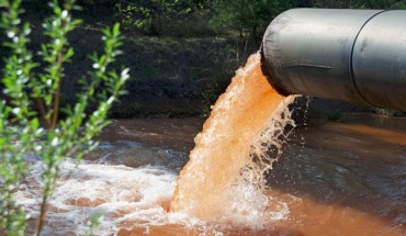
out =
<svg viewBox="0 0 406 236"><path fill-rule="evenodd" d="M43 169L42 161L36 159L32 162L24 181L26 183L20 184L15 192L18 203L33 218L40 214ZM42 235L87 234L94 215L103 215L95 235L113 235L120 229L134 227L145 228L147 233L151 226L165 227L167 224L193 228L200 235L223 235L226 226L212 225L184 213L167 212L176 179L176 172L157 166L131 168L89 161L77 164L74 159L67 159L60 166L57 188L48 201L47 222ZM272 203L278 207L268 211L263 217L262 213L248 207L248 204L263 209L269 205L268 198L258 195L247 183L234 184L233 188L235 202L244 203L230 210L228 217L233 217L233 223L248 223L255 228L266 222L281 220L289 213L286 205Z"/></svg>

